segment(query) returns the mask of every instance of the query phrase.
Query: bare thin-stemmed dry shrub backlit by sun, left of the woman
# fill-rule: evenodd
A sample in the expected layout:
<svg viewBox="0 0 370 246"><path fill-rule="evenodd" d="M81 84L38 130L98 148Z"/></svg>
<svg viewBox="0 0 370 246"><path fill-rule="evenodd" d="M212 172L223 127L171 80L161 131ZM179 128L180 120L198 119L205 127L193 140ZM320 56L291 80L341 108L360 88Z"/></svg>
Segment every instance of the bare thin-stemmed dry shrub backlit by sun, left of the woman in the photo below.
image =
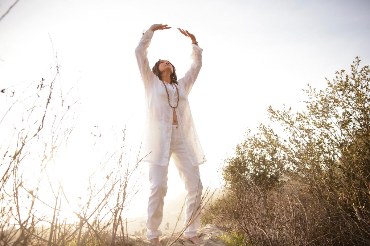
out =
<svg viewBox="0 0 370 246"><path fill-rule="evenodd" d="M55 168L64 164L57 160L75 128L80 100L71 96L73 88L65 91L59 68L55 56L50 75L0 95L9 105L0 118L0 245L127 244L124 213L138 191L140 160L125 160L125 129L116 134L115 148L105 149L94 127L85 144L96 146L95 163L84 170L87 179L78 180L86 187L80 194L66 192L62 179L75 180L59 177ZM77 222L67 220L66 211Z"/></svg>

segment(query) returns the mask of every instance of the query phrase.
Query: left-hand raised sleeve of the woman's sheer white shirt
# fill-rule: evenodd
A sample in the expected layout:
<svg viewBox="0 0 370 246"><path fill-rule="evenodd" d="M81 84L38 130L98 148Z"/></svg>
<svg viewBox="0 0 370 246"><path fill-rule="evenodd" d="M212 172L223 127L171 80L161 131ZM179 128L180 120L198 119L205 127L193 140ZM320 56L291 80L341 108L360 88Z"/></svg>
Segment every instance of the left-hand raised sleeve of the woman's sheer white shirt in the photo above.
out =
<svg viewBox="0 0 370 246"><path fill-rule="evenodd" d="M150 83L153 82L155 77L157 77L149 67L149 61L147 58L148 47L150 41L153 37L154 31L148 29L142 35L138 46L135 48L135 56L139 67L139 72L141 75L141 80L144 83L144 87L147 87Z"/></svg>

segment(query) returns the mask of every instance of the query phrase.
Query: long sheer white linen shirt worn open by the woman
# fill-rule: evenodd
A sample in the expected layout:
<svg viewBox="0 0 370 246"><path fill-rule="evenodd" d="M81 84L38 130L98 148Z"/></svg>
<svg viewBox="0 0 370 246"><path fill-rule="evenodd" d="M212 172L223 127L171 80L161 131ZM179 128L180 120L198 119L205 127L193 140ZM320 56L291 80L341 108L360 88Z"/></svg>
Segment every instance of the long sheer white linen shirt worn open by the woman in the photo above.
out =
<svg viewBox="0 0 370 246"><path fill-rule="evenodd" d="M177 91L174 84L171 85L164 82L169 94L169 102L172 105L170 107L164 84L149 67L147 49L153 34L154 31L148 29L142 35L135 49L141 80L144 83L147 107L147 119L138 160L167 166L174 113L172 107L175 107L177 104ZM180 125L181 136L184 139L185 149L193 166L199 166L207 161L195 130L188 101L188 94L202 67L202 51L202 48L192 44L190 58L193 62L185 76L179 79L178 84L176 84L179 90L179 104L175 108L175 112Z"/></svg>

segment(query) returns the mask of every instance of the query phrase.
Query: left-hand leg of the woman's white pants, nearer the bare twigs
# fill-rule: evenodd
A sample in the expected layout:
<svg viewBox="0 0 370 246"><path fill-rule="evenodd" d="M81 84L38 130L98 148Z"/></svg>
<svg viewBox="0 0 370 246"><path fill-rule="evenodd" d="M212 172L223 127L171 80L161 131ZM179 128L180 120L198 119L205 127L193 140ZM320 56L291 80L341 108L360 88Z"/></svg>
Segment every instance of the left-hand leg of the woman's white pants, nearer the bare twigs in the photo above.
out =
<svg viewBox="0 0 370 246"><path fill-rule="evenodd" d="M167 174L168 164L174 149L174 130L172 130L172 138L170 144L169 157L167 166L159 166L157 164L149 163L149 181L151 183L151 193L148 199L148 217L145 226L147 232L145 236L148 240L159 238L162 231L158 230L163 219L163 205L164 197L167 194Z"/></svg>

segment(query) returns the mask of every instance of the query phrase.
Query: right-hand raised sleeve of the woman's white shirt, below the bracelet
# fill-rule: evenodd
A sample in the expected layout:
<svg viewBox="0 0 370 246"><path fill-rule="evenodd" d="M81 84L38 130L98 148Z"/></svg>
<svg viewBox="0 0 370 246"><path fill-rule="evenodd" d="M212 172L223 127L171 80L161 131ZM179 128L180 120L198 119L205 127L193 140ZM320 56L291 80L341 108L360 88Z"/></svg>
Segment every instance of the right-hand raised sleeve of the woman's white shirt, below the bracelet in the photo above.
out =
<svg viewBox="0 0 370 246"><path fill-rule="evenodd" d="M182 77L180 80L184 83L186 92L189 94L193 84L198 77L199 71L202 67L202 52L203 49L200 48L198 45L191 44L193 48L193 52L190 55L190 58L193 60L191 63L190 69L188 72L185 73L185 76Z"/></svg>

